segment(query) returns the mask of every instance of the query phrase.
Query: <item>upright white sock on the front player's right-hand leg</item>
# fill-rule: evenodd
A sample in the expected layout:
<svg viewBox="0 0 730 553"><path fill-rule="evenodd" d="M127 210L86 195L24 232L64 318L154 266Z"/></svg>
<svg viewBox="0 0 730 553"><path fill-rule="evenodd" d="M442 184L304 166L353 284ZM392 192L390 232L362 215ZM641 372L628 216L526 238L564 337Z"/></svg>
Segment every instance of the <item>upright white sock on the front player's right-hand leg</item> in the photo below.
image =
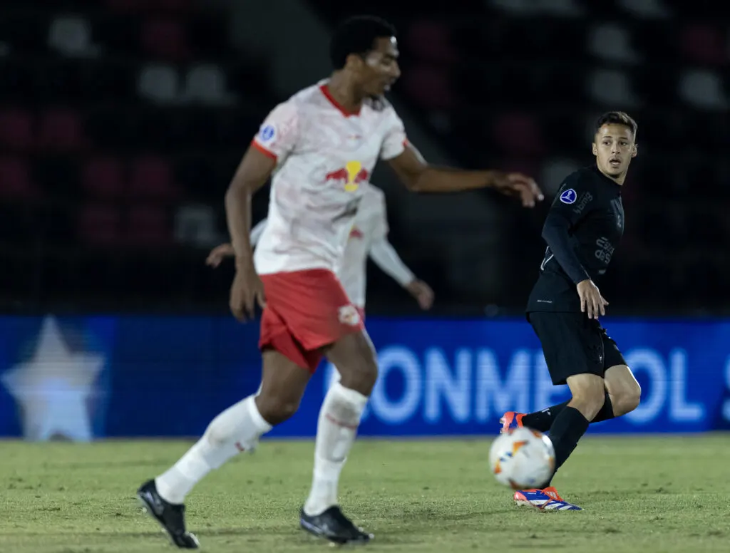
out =
<svg viewBox="0 0 730 553"><path fill-rule="evenodd" d="M337 505L339 473L355 443L367 400L365 395L339 382L329 388L317 423L315 468L310 497L304 503L306 514L321 514Z"/></svg>

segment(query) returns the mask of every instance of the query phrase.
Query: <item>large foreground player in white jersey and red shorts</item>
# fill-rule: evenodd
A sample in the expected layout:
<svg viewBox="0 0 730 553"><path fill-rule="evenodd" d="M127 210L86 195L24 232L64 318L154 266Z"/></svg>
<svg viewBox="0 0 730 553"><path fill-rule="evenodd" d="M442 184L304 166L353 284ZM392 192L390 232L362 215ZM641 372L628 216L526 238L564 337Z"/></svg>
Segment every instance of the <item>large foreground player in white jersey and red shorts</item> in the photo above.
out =
<svg viewBox="0 0 730 553"><path fill-rule="evenodd" d="M238 320L253 318L256 304L263 309L261 388L215 417L177 463L137 490L147 512L180 548L199 547L185 528L185 496L208 472L253 449L296 412L323 356L337 367L340 380L320 410L312 487L299 525L337 544L372 539L342 513L337 488L377 363L356 306L334 271L364 195L361 183L378 158L415 192L491 187L519 196L524 206L542 200L523 174L439 168L423 160L383 97L400 76L395 34L378 18L340 24L331 39L331 77L273 109L228 187L226 215L236 252L229 303ZM269 220L253 255L250 200L269 177Z"/></svg>

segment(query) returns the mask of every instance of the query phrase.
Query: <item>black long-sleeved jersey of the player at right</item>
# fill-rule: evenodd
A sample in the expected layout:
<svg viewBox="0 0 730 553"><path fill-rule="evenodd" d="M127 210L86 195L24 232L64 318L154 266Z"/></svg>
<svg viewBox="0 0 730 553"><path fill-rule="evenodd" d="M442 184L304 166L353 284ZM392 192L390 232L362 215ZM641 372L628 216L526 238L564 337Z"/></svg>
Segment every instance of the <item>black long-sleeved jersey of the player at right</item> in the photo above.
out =
<svg viewBox="0 0 730 553"><path fill-rule="evenodd" d="M596 166L570 174L542 228L548 243L527 311L580 311L575 285L599 284L623 235L621 185Z"/></svg>

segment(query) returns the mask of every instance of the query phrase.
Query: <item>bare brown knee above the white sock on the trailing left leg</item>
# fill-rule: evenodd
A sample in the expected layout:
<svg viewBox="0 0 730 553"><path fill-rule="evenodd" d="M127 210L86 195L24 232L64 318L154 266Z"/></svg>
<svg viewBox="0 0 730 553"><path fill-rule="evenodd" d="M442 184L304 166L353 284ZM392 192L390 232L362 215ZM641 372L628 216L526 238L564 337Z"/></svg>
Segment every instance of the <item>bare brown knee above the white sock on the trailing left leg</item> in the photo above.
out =
<svg viewBox="0 0 730 553"><path fill-rule="evenodd" d="M264 419L287 419L297 409L312 374L276 349L261 352L263 368L256 405Z"/></svg>

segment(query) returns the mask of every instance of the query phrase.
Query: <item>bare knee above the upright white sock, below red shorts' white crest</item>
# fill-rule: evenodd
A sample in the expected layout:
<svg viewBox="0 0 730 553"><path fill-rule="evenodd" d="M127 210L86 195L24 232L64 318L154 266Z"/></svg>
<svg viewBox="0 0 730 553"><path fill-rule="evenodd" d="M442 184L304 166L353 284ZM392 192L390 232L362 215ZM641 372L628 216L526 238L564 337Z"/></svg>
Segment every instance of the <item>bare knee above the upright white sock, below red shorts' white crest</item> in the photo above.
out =
<svg viewBox="0 0 730 553"><path fill-rule="evenodd" d="M339 337L322 352L337 367L342 386L370 395L377 380L377 358L364 329Z"/></svg>

